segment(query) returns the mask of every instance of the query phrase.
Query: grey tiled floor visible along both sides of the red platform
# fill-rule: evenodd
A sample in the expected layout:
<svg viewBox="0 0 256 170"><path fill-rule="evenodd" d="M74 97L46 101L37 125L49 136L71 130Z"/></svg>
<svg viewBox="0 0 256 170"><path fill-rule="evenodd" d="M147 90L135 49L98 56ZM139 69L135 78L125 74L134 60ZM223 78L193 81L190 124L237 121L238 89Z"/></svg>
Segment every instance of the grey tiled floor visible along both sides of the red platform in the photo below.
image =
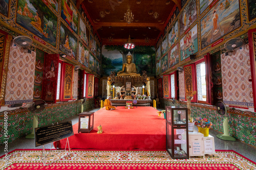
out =
<svg viewBox="0 0 256 170"><path fill-rule="evenodd" d="M93 109L90 111L97 111L98 109ZM161 110L161 109L159 109ZM73 116L70 117L66 120L63 120L63 122L72 120L72 124L78 123L78 116ZM197 131L197 128L195 127L194 131ZM215 138L215 149L216 150L234 150L241 155L247 157L248 159L256 162L256 148L251 147L248 144L245 144L241 141L226 141L226 140L221 140L216 137L219 132L210 130L209 134L211 136L214 136ZM51 148L51 144L46 144L45 148ZM12 143L8 144L8 152L13 151L14 149L42 149L42 146L36 147L35 148L35 141L34 139L26 139L25 137L20 138L18 140L15 140ZM4 155L4 147L0 148L0 156Z"/></svg>

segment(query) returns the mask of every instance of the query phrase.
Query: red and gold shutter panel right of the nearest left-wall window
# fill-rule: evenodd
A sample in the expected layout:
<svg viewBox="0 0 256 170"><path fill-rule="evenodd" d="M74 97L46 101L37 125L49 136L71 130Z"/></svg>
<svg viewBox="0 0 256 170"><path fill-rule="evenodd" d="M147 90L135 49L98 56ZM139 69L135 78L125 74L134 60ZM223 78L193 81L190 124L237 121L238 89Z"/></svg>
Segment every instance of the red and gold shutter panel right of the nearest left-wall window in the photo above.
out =
<svg viewBox="0 0 256 170"><path fill-rule="evenodd" d="M72 100L73 65L62 62L62 82L60 101Z"/></svg>

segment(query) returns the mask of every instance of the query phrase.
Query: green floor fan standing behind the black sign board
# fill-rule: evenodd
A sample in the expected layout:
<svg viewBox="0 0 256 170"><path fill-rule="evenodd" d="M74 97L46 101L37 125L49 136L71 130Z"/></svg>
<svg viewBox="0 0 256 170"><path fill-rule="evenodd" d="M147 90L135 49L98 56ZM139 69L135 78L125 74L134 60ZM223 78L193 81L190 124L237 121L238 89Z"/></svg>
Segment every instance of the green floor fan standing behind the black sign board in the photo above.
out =
<svg viewBox="0 0 256 170"><path fill-rule="evenodd" d="M34 139L35 138L35 128L38 127L38 118L36 116L36 113L41 112L45 109L46 107L46 102L43 100L34 100L33 101L33 106L29 107L28 110L30 113L34 114L33 115L33 129L32 133L28 134L26 136L26 139Z"/></svg>

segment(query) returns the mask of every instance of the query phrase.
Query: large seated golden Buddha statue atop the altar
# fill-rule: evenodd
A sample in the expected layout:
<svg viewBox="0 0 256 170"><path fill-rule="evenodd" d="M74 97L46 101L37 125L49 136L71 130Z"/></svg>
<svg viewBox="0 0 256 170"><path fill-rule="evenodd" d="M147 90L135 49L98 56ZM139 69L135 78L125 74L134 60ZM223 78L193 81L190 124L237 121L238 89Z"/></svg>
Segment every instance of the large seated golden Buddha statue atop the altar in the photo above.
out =
<svg viewBox="0 0 256 170"><path fill-rule="evenodd" d="M123 64L122 70L117 72L117 76L140 76L137 74L136 65L132 63L132 54L129 52L126 55L127 63Z"/></svg>

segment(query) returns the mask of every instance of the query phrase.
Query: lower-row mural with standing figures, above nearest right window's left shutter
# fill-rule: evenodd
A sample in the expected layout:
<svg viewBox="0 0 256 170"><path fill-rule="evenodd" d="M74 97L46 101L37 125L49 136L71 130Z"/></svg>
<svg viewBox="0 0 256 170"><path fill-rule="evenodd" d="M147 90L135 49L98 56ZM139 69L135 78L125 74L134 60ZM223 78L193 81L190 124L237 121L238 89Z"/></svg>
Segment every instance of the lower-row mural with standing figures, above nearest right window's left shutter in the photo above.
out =
<svg viewBox="0 0 256 170"><path fill-rule="evenodd" d="M189 30L180 40L180 61L188 58L190 54L198 52L197 25Z"/></svg>

